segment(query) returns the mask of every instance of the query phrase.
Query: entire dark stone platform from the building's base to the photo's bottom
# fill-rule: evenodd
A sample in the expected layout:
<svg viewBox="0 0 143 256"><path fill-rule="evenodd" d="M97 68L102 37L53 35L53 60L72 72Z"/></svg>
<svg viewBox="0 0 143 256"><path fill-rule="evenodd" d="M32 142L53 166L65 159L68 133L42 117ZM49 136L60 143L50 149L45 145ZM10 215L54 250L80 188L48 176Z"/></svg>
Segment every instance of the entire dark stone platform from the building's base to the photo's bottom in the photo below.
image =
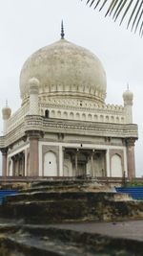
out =
<svg viewBox="0 0 143 256"><path fill-rule="evenodd" d="M143 201L97 182L33 183L0 218L2 256L142 256Z"/></svg>

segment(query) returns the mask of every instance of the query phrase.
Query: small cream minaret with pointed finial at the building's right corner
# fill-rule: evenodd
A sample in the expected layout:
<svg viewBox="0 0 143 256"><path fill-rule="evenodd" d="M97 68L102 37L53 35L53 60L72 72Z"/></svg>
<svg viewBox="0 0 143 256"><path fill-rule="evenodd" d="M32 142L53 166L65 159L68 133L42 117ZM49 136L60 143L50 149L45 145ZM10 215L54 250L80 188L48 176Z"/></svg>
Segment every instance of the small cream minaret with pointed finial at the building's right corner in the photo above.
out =
<svg viewBox="0 0 143 256"><path fill-rule="evenodd" d="M126 111L126 122L127 124L133 124L133 92L127 90L123 93L124 107Z"/></svg>

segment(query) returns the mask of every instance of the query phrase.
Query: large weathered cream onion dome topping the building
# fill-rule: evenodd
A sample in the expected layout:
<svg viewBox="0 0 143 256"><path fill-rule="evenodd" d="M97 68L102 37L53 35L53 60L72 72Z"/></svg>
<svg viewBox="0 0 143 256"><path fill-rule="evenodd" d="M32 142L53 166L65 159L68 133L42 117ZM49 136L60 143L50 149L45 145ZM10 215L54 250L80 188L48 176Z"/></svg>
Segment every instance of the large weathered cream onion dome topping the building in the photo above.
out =
<svg viewBox="0 0 143 256"><path fill-rule="evenodd" d="M25 62L20 75L23 104L29 99L33 77L39 81L39 99L70 97L104 103L106 97L106 74L100 60L65 39L40 49Z"/></svg>

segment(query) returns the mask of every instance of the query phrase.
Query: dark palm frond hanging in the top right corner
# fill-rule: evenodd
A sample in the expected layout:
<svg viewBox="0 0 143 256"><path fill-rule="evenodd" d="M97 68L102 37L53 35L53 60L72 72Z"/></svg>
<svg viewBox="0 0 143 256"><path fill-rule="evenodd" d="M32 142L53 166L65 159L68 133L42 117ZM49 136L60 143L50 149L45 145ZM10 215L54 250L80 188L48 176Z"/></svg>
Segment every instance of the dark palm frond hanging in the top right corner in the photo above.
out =
<svg viewBox="0 0 143 256"><path fill-rule="evenodd" d="M120 25L126 20L127 28L131 28L134 33L143 35L143 0L81 0L87 5L105 10L105 16L112 16L116 21L120 18Z"/></svg>

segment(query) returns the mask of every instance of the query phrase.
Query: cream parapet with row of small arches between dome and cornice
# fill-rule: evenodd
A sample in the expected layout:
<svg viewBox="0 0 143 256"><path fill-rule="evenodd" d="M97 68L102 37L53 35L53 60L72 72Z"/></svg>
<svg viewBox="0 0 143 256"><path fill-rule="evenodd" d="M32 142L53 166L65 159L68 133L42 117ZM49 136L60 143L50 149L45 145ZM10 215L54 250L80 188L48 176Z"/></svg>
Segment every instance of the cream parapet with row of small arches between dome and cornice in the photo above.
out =
<svg viewBox="0 0 143 256"><path fill-rule="evenodd" d="M47 109L51 118L126 124L126 112L122 105L97 105L89 101L49 99L48 103L40 105L41 116L45 116Z"/></svg>

